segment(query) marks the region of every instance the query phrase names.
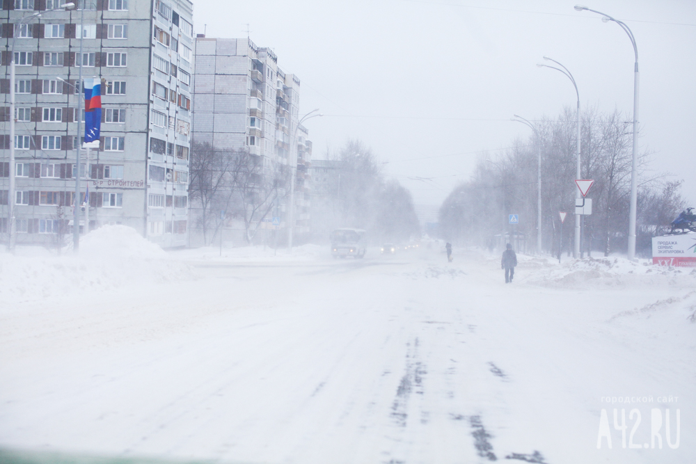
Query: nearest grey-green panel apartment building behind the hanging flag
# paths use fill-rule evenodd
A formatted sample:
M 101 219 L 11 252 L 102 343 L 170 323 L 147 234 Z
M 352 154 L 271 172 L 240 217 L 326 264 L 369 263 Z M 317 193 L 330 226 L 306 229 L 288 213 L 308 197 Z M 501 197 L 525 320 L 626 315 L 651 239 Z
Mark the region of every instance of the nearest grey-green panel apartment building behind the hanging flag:
M 102 81 L 99 150 L 91 150 L 90 229 L 124 224 L 162 246 L 187 243 L 193 4 L 188 0 L 4 0 L 1 189 L 15 175 L 17 243 L 52 243 L 72 228 L 76 147 L 84 134 L 79 64 Z M 84 6 L 85 10 L 80 8 Z M 35 12 L 39 19 L 19 22 Z M 84 13 L 84 26 L 81 17 Z M 80 42 L 83 50 L 80 56 Z M 15 50 L 15 141 L 9 140 L 9 54 Z M 81 125 L 84 130 L 84 124 Z M 78 138 L 79 137 L 79 138 Z M 6 168 L 15 143 L 15 173 Z M 82 152 L 83 166 L 86 152 Z M 83 224 L 80 225 L 83 228 Z M 70 232 L 70 231 L 68 231 Z

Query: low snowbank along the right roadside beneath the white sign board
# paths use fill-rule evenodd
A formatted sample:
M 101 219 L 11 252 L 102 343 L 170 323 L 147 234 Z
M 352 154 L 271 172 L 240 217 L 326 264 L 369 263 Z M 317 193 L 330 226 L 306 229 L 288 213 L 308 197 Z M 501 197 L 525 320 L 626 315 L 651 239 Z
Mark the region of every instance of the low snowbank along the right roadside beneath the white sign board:
M 696 269 L 674 268 L 638 262 L 623 257 L 555 259 L 524 257 L 519 260 L 519 275 L 525 281 L 547 287 L 597 287 L 623 285 L 696 285 Z

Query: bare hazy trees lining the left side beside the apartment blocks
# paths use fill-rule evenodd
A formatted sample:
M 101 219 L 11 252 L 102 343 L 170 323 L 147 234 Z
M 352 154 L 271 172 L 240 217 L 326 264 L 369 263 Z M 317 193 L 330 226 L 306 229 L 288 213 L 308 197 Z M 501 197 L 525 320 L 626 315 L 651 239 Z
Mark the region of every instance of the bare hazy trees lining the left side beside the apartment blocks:
M 323 183 L 325 189 L 313 192 L 311 231 L 299 241 L 326 241 L 338 227 L 366 229 L 376 241 L 406 241 L 419 234 L 411 193 L 384 179 L 370 147 L 349 140 L 340 150 L 327 152 L 327 157 L 331 173 Z M 221 227 L 239 221 L 246 243 L 253 243 L 259 223 L 287 214 L 291 175 L 290 166 L 264 162 L 244 150 L 221 151 L 209 143 L 193 143 L 189 168 L 193 226 L 209 244 Z M 285 232 L 287 227 L 280 234 Z

